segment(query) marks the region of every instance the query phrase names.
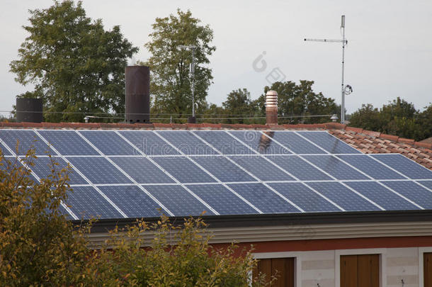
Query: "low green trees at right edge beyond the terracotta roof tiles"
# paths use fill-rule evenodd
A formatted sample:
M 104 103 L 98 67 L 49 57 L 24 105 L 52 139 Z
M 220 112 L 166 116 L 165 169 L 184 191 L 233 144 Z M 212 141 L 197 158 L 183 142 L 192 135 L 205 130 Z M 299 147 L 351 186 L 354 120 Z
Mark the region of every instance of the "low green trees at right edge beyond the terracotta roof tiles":
M 362 105 L 351 115 L 350 125 L 399 137 L 423 140 L 432 136 L 431 114 L 432 104 L 420 113 L 413 103 L 397 97 L 380 109 L 374 108 L 370 103 Z

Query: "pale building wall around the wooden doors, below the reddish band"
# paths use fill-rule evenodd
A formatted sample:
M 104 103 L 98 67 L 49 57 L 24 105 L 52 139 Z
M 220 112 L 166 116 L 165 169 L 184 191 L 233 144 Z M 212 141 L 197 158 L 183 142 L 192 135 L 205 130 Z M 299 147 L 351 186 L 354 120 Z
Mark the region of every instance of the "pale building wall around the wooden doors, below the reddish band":
M 423 285 L 423 252 L 432 252 L 432 247 L 256 252 L 254 256 L 257 259 L 295 257 L 295 286 L 339 287 L 341 255 L 380 254 L 380 286 L 401 287 L 404 280 L 404 287 L 420 287 Z

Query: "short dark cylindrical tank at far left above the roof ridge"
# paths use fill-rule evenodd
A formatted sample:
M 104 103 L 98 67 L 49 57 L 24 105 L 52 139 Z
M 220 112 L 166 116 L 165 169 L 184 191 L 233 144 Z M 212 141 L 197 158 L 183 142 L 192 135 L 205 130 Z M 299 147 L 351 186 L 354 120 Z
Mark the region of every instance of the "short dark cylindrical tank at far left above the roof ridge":
M 17 98 L 16 120 L 18 122 L 42 123 L 42 99 Z

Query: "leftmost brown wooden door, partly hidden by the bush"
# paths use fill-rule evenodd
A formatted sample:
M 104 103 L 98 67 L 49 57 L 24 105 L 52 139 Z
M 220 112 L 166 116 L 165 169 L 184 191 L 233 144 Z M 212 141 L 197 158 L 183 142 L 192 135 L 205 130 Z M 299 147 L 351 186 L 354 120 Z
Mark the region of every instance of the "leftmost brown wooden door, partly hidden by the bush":
M 254 270 L 254 277 L 259 273 L 266 274 L 266 281 L 277 273 L 277 278 L 271 287 L 294 287 L 294 258 L 259 259 Z

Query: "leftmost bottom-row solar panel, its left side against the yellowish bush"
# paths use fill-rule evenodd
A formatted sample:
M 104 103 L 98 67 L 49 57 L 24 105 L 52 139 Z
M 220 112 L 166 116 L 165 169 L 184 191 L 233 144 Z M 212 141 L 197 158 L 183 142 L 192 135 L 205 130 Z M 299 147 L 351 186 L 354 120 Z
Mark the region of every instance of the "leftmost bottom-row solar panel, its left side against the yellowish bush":
M 123 216 L 91 186 L 75 186 L 67 192 L 67 206 L 79 219 L 123 218 Z

